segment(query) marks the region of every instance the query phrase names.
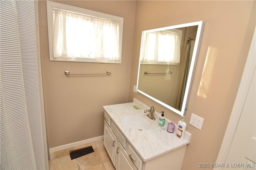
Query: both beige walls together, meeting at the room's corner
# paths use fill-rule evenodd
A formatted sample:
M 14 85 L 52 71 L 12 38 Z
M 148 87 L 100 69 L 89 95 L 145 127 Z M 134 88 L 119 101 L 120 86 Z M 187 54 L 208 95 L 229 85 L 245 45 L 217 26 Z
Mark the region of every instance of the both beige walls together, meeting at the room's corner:
M 226 130 L 255 27 L 255 1 L 58 1 L 124 18 L 122 64 L 49 61 L 46 1 L 39 1 L 40 53 L 49 147 L 103 135 L 104 105 L 137 98 L 175 123 L 178 114 L 134 93 L 142 30 L 203 20 L 202 43 L 186 123 L 192 141 L 182 169 L 214 163 Z M 135 16 L 136 14 L 136 16 Z M 105 72 L 111 76 L 64 76 Z M 191 113 L 202 130 L 189 125 Z M 202 169 L 202 168 L 200 168 Z M 211 168 L 212 169 L 212 168 Z

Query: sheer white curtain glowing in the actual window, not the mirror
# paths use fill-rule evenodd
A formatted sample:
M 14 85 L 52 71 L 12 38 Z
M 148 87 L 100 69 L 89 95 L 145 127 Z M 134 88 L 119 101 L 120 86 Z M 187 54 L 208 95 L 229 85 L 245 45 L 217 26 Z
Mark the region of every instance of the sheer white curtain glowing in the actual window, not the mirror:
M 120 60 L 119 22 L 54 9 L 54 58 Z

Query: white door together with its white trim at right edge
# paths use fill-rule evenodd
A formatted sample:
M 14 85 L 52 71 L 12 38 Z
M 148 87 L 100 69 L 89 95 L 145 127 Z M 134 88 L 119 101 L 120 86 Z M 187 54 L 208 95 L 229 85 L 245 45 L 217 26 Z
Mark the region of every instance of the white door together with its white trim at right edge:
M 256 29 L 214 170 L 256 170 Z

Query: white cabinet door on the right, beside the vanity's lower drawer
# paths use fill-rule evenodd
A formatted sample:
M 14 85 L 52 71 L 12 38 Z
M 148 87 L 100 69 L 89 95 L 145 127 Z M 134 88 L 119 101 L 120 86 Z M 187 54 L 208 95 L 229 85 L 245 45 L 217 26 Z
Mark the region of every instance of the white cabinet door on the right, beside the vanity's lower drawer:
M 137 170 L 134 164 L 129 160 L 128 154 L 119 141 L 116 149 L 116 163 L 114 165 L 116 170 Z

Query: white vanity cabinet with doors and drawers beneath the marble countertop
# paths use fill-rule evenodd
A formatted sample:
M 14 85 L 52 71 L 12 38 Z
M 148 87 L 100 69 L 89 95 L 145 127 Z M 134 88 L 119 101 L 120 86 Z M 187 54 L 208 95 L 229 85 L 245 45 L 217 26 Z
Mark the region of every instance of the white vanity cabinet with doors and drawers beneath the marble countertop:
M 181 169 L 186 145 L 144 161 L 106 112 L 104 117 L 103 143 L 116 170 Z M 148 145 L 148 143 L 145 143 L 145 145 Z

